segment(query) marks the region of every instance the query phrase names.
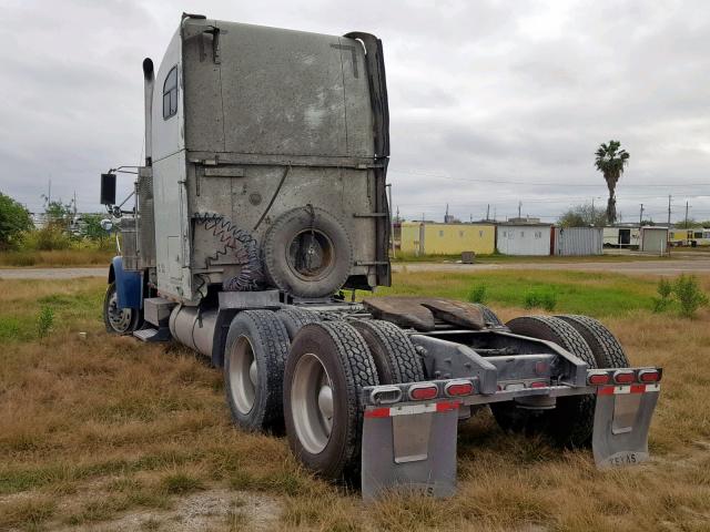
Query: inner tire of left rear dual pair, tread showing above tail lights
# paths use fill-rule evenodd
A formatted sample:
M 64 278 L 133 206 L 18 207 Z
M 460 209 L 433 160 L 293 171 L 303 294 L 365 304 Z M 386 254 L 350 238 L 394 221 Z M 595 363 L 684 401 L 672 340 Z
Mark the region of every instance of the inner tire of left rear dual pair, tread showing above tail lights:
M 422 357 L 399 327 L 379 319 L 355 319 L 351 325 L 365 339 L 381 385 L 425 380 Z

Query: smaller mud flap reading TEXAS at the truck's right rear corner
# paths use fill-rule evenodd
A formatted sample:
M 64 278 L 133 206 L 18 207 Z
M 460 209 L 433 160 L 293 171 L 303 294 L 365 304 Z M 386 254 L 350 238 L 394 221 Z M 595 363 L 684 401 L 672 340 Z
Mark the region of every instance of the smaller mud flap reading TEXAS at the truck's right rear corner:
M 660 385 L 605 386 L 597 390 L 591 447 L 599 469 L 648 460 L 648 429 Z

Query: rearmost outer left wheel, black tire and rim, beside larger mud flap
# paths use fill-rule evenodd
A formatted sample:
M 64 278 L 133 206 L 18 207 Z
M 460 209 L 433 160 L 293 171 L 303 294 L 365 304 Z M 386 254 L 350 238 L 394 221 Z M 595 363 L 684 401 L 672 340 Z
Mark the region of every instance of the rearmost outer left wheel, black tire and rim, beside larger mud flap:
M 359 471 L 362 390 L 378 385 L 367 344 L 345 321 L 306 325 L 291 345 L 284 372 L 288 444 L 308 469 L 327 479 Z

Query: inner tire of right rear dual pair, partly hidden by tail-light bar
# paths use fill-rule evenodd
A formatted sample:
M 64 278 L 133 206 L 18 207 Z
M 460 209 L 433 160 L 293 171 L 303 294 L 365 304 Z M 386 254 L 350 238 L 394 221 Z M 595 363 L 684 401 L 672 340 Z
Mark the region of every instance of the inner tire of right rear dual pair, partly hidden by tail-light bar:
M 596 368 L 597 362 L 585 338 L 566 321 L 549 316 L 527 316 L 508 321 L 516 335 L 554 341 Z M 501 429 L 511 432 L 542 432 L 565 447 L 587 446 L 594 428 L 596 397 L 557 398 L 552 410 L 524 410 L 514 402 L 494 403 L 490 409 Z

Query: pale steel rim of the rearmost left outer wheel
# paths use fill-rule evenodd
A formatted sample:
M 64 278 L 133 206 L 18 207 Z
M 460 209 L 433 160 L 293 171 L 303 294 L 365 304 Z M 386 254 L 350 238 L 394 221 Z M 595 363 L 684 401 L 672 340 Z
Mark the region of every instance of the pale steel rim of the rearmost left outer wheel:
M 303 448 L 318 454 L 333 430 L 333 383 L 318 357 L 308 352 L 296 362 L 291 387 L 293 424 Z

